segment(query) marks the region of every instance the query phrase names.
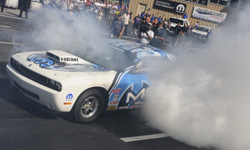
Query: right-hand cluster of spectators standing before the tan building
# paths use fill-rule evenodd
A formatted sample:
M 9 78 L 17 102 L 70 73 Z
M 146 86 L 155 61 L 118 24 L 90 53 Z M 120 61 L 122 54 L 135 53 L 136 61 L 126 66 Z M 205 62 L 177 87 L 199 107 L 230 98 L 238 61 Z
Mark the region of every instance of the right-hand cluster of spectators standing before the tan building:
M 182 18 L 187 19 L 187 13 L 184 13 Z M 184 26 L 177 24 L 173 27 L 169 19 L 163 19 L 161 16 L 157 17 L 154 14 L 144 12 L 135 16 L 132 24 L 133 30 L 131 34 L 138 37 L 138 42 L 160 48 L 163 48 L 163 43 L 166 42 L 178 45 L 180 40 L 189 34 L 191 28 L 187 22 L 184 23 Z M 172 41 L 167 41 L 167 36 L 171 36 Z

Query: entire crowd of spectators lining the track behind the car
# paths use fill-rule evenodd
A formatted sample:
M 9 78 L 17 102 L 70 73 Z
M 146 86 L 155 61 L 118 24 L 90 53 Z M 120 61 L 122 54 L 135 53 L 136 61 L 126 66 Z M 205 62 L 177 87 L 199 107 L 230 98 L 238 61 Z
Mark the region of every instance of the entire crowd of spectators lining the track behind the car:
M 97 25 L 100 25 L 103 18 L 113 18 L 109 29 L 111 37 L 120 38 L 123 34 L 127 36 L 128 33 L 131 33 L 137 36 L 138 42 L 159 48 L 163 48 L 163 43 L 178 45 L 189 35 L 190 28 L 192 28 L 187 22 L 184 23 L 184 26 L 181 26 L 180 23 L 173 26 L 169 19 L 142 12 L 132 18 L 133 29 L 128 31 L 131 19 L 128 4 L 94 0 L 42 0 L 41 2 L 43 7 L 55 7 L 71 14 L 84 12 L 93 15 Z M 21 9 L 20 16 L 25 10 Z M 184 13 L 182 18 L 187 19 L 187 13 Z M 198 22 L 196 22 L 196 26 L 198 26 Z M 171 41 L 167 41 L 168 36 L 172 37 Z

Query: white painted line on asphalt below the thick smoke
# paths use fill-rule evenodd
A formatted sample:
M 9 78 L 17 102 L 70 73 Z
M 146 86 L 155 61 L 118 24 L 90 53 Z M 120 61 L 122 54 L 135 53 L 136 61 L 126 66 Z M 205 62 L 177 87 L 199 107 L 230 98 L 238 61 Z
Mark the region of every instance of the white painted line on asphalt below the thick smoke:
M 159 133 L 159 134 L 151 134 L 151 135 L 143 135 L 143 136 L 125 137 L 125 138 L 120 138 L 120 139 L 127 143 L 127 142 L 158 139 L 158 138 L 164 138 L 164 137 L 168 137 L 168 135 L 166 135 L 165 133 Z

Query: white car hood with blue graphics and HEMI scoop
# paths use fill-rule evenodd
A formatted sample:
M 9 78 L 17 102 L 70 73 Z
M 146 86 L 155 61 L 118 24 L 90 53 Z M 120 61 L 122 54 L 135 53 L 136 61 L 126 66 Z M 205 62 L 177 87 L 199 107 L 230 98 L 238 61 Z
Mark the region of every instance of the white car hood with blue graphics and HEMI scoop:
M 90 63 L 80 57 L 60 50 L 47 52 L 24 52 L 22 59 L 26 59 L 29 66 L 37 65 L 42 69 L 63 72 L 107 72 L 107 68 Z

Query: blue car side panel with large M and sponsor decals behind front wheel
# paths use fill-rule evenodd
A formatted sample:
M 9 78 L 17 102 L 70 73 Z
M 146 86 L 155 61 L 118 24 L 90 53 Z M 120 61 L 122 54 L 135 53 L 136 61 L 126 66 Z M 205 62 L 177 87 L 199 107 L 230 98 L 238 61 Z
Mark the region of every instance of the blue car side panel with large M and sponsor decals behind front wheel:
M 109 95 L 108 110 L 137 108 L 149 86 L 143 60 L 122 72 Z

